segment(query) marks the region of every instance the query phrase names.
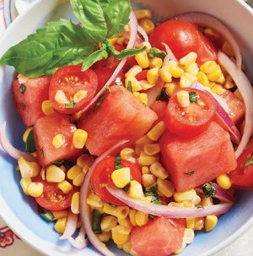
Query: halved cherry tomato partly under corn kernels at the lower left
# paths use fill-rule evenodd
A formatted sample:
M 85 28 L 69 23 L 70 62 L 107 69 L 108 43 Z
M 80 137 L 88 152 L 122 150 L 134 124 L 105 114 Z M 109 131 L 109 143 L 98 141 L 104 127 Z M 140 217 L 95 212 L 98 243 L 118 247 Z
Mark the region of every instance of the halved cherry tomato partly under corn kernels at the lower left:
M 34 182 L 41 182 L 43 184 L 43 193 L 40 197 L 36 197 L 37 204 L 40 204 L 46 210 L 65 210 L 71 205 L 73 193 L 78 191 L 78 188 L 73 186 L 69 193 L 63 193 L 58 188 L 56 182 L 47 182 L 42 177 L 37 176 L 33 179 Z

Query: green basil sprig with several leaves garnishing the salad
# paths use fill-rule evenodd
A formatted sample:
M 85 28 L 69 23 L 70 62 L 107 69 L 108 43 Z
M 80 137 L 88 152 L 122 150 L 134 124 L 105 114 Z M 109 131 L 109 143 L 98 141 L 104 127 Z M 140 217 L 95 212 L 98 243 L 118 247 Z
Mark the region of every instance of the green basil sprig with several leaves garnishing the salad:
M 49 22 L 0 58 L 0 65 L 10 65 L 29 78 L 54 74 L 57 68 L 83 63 L 83 70 L 111 54 L 119 58 L 144 51 L 130 49 L 116 52 L 107 38 L 120 35 L 129 21 L 129 0 L 71 0 L 73 14 L 81 25 L 71 20 Z M 97 50 L 97 45 L 101 48 Z

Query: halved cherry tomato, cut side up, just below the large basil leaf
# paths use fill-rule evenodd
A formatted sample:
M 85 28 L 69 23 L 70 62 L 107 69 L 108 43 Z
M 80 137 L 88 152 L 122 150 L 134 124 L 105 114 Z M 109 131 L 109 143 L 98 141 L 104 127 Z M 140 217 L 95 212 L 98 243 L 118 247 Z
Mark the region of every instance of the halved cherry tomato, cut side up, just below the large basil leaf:
M 82 65 L 64 66 L 58 68 L 52 76 L 49 99 L 57 112 L 73 114 L 82 110 L 93 99 L 97 91 L 97 75 L 91 69 L 81 71 L 81 68 Z M 78 93 L 81 95 L 78 96 Z

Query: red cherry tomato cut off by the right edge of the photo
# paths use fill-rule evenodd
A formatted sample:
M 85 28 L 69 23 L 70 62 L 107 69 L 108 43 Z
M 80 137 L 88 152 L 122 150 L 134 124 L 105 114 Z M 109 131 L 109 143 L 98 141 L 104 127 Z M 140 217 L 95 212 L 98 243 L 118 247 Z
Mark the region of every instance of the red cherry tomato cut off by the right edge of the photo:
M 229 172 L 229 178 L 235 187 L 253 188 L 253 139 L 237 159 L 237 167 Z

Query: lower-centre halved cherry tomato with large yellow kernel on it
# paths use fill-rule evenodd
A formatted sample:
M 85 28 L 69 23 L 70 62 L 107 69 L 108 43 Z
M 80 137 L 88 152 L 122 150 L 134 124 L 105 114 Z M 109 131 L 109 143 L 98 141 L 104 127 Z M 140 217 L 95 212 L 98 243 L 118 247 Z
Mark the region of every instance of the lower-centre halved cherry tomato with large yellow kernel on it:
M 100 161 L 97 166 L 95 166 L 91 177 L 91 186 L 94 189 L 94 192 L 97 193 L 101 199 L 105 200 L 105 202 L 116 205 L 125 205 L 121 200 L 116 199 L 111 195 L 105 188 L 106 184 L 114 186 L 111 179 L 111 173 L 115 170 L 115 159 L 116 158 L 113 156 L 106 157 L 104 160 Z M 136 164 L 121 159 L 121 166 L 130 167 L 132 179 L 142 183 L 142 174 Z

